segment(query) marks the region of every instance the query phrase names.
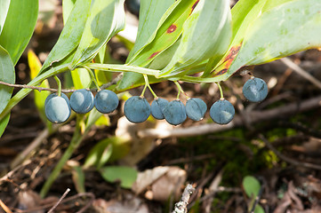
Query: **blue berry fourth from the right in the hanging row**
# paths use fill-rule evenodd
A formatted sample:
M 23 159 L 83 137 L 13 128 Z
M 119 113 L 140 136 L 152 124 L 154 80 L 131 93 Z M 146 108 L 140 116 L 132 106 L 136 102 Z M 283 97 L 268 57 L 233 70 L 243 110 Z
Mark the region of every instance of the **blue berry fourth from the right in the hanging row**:
M 187 118 L 186 109 L 181 100 L 173 100 L 164 108 L 163 114 L 166 122 L 179 125 Z

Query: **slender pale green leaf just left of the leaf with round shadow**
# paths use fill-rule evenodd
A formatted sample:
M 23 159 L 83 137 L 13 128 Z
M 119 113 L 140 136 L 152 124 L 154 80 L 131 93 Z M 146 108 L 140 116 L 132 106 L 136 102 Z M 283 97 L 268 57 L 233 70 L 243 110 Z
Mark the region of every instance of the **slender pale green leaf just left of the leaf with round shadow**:
M 62 61 L 70 55 L 73 57 L 73 51 L 78 46 L 84 32 L 84 25 L 89 16 L 90 5 L 91 1 L 89 0 L 76 1 L 57 43 L 52 48 L 48 58 L 44 61 L 40 74 L 43 73 L 47 67 L 50 67 L 53 62 Z

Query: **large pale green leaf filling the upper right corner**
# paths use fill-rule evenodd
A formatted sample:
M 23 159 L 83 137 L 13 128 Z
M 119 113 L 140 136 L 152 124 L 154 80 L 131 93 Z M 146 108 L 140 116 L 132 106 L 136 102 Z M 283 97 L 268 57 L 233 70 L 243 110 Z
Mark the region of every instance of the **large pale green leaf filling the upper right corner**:
M 320 8 L 318 0 L 297 0 L 264 12 L 248 28 L 243 46 L 226 77 L 244 66 L 263 64 L 320 47 Z

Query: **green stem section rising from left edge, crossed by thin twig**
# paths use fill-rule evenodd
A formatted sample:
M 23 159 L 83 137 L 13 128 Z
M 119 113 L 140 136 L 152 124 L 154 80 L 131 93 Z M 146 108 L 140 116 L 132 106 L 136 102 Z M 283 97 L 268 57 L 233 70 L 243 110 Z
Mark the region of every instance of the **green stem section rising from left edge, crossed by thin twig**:
M 39 85 L 40 83 L 42 83 L 44 81 L 44 79 L 47 79 L 53 75 L 58 75 L 60 73 L 66 72 L 69 70 L 69 64 L 64 64 L 64 65 L 60 65 L 57 67 L 53 67 L 52 69 L 44 72 L 41 75 L 36 76 L 36 78 L 34 78 L 32 81 L 30 81 L 27 85 L 28 86 L 36 86 Z M 17 94 L 15 96 L 12 97 L 12 99 L 10 99 L 9 103 L 7 106 L 5 106 L 4 110 L 2 111 L 2 113 L 0 114 L 0 121 L 4 119 L 4 117 L 10 113 L 10 111 L 12 110 L 13 106 L 16 106 L 21 99 L 25 98 L 28 93 L 32 91 L 31 89 L 22 89 L 19 92 L 17 92 Z

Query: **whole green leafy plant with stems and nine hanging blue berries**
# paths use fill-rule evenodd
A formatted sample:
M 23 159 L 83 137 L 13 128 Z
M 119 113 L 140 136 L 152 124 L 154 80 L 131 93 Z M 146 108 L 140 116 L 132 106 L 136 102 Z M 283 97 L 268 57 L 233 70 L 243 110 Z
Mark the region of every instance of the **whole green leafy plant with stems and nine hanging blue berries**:
M 14 84 L 14 66 L 34 32 L 38 0 L 3 2 L 0 8 L 0 135 L 9 122 L 12 107 L 30 91 L 44 92 L 44 102 L 49 95 L 45 92 L 52 91 L 46 80 L 50 77 L 55 78 L 58 89 L 53 90 L 56 94 L 50 95 L 45 104 L 38 103 L 38 108 L 44 111 L 43 117 L 51 122 L 66 122 L 71 110 L 77 113 L 72 147 L 68 147 L 47 179 L 42 196 L 86 132 L 100 118 L 100 112 L 110 113 L 116 109 L 117 93 L 144 85 L 140 96 L 126 101 L 125 116 L 131 122 L 143 122 L 152 114 L 156 119 L 177 125 L 187 116 L 199 121 L 207 110 L 201 99 L 187 97 L 184 106 L 180 94 L 185 93 L 180 83 L 218 83 L 221 99 L 213 101 L 210 115 L 214 122 L 226 124 L 232 120 L 235 110 L 224 99 L 221 82 L 241 68 L 321 47 L 319 0 L 239 0 L 232 9 L 227 0 L 141 0 L 136 42 L 125 64 L 110 64 L 105 63 L 106 47 L 110 38 L 124 29 L 124 0 L 63 0 L 65 26 L 57 43 L 28 85 L 21 86 L 12 97 L 13 87 L 19 86 Z M 120 75 L 111 79 L 110 72 Z M 71 73 L 74 90 L 61 89 L 57 75 L 62 73 Z M 79 80 L 84 79 L 82 75 L 90 80 Z M 152 91 L 151 83 L 163 81 L 177 85 L 176 100 L 168 102 Z M 147 88 L 155 97 L 151 106 L 144 98 Z M 89 89 L 98 91 L 95 97 Z M 61 91 L 74 93 L 69 100 Z M 254 76 L 245 83 L 243 91 L 250 101 L 261 101 L 268 94 L 266 83 Z M 41 95 L 37 93 L 37 96 Z

